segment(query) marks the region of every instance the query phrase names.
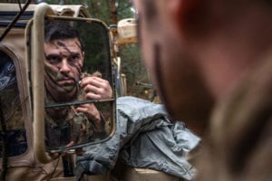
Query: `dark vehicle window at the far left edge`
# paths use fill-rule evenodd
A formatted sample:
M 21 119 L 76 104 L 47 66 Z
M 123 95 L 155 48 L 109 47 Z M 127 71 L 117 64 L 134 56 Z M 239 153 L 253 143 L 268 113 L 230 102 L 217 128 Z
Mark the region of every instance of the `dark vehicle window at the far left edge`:
M 25 152 L 27 142 L 15 63 L 7 53 L 1 50 L 0 101 L 0 157 L 19 156 Z

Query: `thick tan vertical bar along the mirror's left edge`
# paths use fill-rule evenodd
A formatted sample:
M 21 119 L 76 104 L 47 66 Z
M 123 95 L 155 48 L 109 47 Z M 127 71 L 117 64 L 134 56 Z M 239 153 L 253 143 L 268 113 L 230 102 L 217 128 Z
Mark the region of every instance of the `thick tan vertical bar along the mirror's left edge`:
M 34 96 L 34 154 L 42 163 L 48 163 L 58 154 L 45 152 L 44 143 L 44 15 L 53 14 L 53 9 L 41 3 L 34 11 L 32 58 L 32 81 Z M 41 39 L 39 39 L 41 37 Z

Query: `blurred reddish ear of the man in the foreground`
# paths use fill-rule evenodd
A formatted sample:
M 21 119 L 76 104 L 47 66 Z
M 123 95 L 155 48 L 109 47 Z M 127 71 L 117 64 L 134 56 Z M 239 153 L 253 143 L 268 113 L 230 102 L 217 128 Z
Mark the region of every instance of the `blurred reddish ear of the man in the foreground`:
M 206 5 L 203 0 L 168 0 L 169 11 L 174 24 L 182 32 L 193 33 L 199 30 L 204 21 Z M 203 16 L 204 15 L 204 16 Z

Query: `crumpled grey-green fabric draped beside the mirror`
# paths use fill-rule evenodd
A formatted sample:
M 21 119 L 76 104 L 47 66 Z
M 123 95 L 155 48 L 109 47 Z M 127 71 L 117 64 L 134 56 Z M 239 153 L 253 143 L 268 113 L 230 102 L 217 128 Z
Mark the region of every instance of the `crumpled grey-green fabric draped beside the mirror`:
M 121 157 L 128 166 L 144 167 L 191 180 L 196 169 L 185 155 L 200 138 L 181 121 L 171 122 L 161 104 L 134 97 L 117 99 L 117 128 L 106 142 L 83 148 L 75 176 L 105 175 Z

